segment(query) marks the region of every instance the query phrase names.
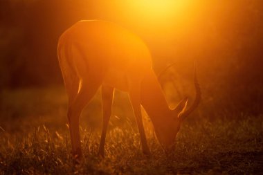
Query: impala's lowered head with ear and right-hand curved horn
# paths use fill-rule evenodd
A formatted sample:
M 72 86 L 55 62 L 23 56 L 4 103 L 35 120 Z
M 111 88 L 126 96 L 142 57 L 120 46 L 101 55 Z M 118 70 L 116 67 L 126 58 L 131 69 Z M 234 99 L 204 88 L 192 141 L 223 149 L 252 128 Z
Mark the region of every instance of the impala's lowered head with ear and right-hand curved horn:
M 174 141 L 183 120 L 185 120 L 185 118 L 187 118 L 190 113 L 192 113 L 192 111 L 198 107 L 201 100 L 201 90 L 197 81 L 195 66 L 194 87 L 196 95 L 192 106 L 187 109 L 188 98 L 184 98 L 181 100 L 181 102 L 179 102 L 175 109 L 167 113 L 166 116 L 163 116 L 164 120 L 162 120 L 160 125 L 155 128 L 156 137 L 167 154 L 171 154 L 174 150 Z

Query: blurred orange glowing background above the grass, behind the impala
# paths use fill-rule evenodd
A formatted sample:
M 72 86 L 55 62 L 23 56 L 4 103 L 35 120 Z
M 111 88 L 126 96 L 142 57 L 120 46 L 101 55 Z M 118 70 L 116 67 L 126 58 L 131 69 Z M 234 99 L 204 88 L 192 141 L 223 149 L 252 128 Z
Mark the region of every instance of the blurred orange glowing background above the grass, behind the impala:
M 160 77 L 172 106 L 194 98 L 197 61 L 199 116 L 262 113 L 262 0 L 1 0 L 1 91 L 63 86 L 57 40 L 81 19 L 114 21 L 136 33 L 156 74 L 174 64 Z

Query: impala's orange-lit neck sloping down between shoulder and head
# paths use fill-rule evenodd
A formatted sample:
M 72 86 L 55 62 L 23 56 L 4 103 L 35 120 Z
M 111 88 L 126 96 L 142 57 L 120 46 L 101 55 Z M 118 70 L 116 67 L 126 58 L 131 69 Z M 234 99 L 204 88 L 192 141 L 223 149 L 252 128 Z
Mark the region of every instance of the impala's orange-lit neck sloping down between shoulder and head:
M 153 71 L 149 72 L 141 82 L 141 104 L 154 126 L 172 114 Z

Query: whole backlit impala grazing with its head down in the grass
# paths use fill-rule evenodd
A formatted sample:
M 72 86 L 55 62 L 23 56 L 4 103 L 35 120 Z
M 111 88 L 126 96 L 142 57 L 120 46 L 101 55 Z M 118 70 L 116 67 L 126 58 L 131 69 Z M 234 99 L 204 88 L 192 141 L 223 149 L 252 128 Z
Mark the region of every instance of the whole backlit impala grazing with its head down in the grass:
M 105 137 L 114 89 L 129 93 L 144 154 L 150 154 L 145 138 L 140 104 L 151 118 L 156 137 L 165 151 L 174 147 L 181 122 L 197 108 L 201 92 L 194 71 L 196 98 L 188 110 L 188 99 L 170 109 L 152 70 L 152 57 L 144 42 L 107 21 L 79 21 L 66 30 L 58 42 L 58 57 L 69 97 L 69 129 L 73 156 L 82 156 L 79 118 L 102 86 L 102 135 L 98 153 L 104 156 Z

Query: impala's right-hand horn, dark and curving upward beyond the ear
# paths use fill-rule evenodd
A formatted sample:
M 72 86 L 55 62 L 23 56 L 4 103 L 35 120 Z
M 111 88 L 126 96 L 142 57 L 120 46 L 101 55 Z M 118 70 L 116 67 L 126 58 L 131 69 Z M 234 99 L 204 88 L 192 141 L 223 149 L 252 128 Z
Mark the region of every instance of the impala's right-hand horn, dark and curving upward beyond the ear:
M 194 88 L 195 88 L 195 99 L 194 99 L 194 103 L 192 104 L 192 106 L 179 113 L 179 120 L 183 121 L 185 120 L 185 118 L 187 116 L 190 115 L 190 113 L 192 113 L 192 111 L 194 111 L 194 109 L 196 109 L 201 101 L 201 89 L 200 89 L 200 86 L 199 86 L 199 82 L 197 80 L 197 68 L 196 68 L 196 62 L 194 62 Z

